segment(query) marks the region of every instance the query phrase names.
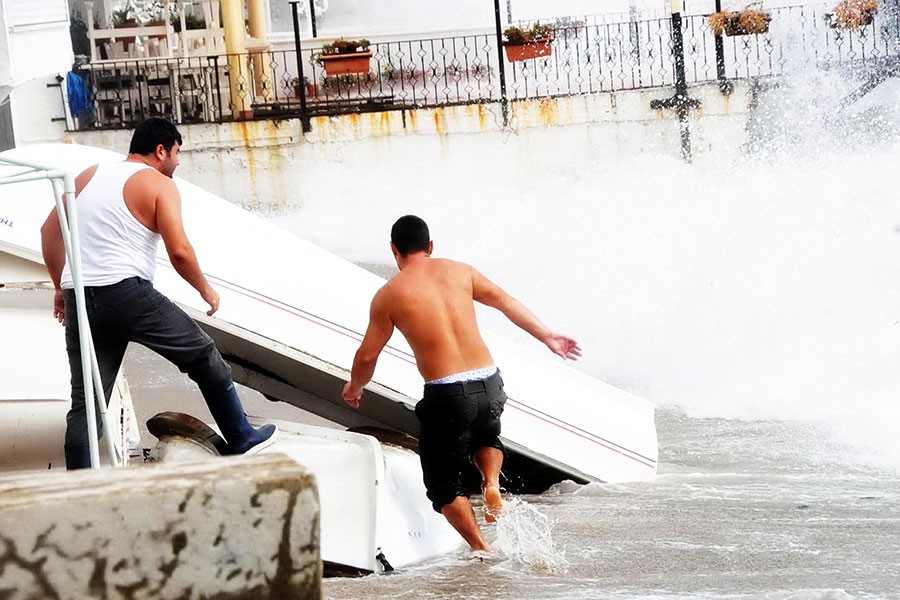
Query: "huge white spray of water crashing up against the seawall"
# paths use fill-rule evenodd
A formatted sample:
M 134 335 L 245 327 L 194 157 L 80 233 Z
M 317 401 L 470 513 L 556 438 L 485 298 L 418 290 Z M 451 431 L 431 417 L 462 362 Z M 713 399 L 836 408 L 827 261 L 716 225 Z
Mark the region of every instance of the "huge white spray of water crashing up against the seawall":
M 763 93 L 751 152 L 693 165 L 585 127 L 391 140 L 396 168 L 362 176 L 371 147 L 335 147 L 281 218 L 388 268 L 391 224 L 418 214 L 436 255 L 579 339 L 577 368 L 694 417 L 832 423 L 900 465 L 900 86 L 838 111 L 855 84 L 837 77 Z

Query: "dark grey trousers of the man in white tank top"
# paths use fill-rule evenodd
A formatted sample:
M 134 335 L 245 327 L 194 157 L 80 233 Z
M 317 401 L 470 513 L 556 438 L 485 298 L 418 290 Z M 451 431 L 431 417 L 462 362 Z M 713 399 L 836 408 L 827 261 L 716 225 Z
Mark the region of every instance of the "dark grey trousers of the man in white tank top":
M 149 281 L 130 277 L 106 286 L 85 287 L 85 307 L 105 397 L 109 398 L 129 342 L 137 342 L 174 363 L 200 387 L 207 404 L 233 394 L 231 367 L 206 332 L 160 294 Z M 72 408 L 66 416 L 66 468 L 90 466 L 81 346 L 74 290 L 65 291 L 66 351 L 72 375 Z M 98 433 L 102 427 L 97 423 Z

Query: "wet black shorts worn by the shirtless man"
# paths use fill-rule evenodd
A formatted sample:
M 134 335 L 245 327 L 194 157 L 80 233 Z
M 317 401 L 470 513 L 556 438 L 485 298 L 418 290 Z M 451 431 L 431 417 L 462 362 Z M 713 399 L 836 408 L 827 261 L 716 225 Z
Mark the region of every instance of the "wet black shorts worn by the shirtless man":
M 476 450 L 497 448 L 506 455 L 500 442 L 505 403 L 499 371 L 479 381 L 425 384 L 416 404 L 419 458 L 425 490 L 437 512 L 457 496 L 468 496 L 462 474 Z

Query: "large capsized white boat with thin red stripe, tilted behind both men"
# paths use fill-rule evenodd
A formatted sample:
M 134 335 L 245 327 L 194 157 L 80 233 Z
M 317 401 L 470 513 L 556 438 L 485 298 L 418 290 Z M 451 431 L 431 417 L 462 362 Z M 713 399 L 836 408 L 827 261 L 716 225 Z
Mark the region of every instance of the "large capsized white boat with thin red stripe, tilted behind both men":
M 67 144 L 0 154 L 73 172 L 122 158 Z M 15 172 L 0 167 L 0 176 Z M 422 381 L 399 332 L 382 354 L 359 412 L 340 391 L 384 281 L 277 225 L 176 177 L 185 227 L 221 295 L 215 317 L 172 269 L 160 245 L 156 286 L 216 339 L 235 379 L 268 397 L 344 425 L 370 424 L 413 436 Z M 15 189 L 15 192 L 10 191 Z M 47 182 L 8 186 L 0 201 L 0 249 L 40 262 L 39 228 L 53 206 Z M 509 402 L 504 467 L 513 489 L 650 479 L 657 470 L 653 405 L 562 363 L 543 348 L 485 333 Z

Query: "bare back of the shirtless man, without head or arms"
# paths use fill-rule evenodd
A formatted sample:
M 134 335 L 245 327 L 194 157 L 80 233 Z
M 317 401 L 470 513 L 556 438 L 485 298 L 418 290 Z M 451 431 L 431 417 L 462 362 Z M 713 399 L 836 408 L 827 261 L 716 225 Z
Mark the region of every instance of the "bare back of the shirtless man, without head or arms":
M 412 262 L 374 302 L 409 342 L 425 381 L 493 365 L 473 304 L 484 277 L 452 260 Z

